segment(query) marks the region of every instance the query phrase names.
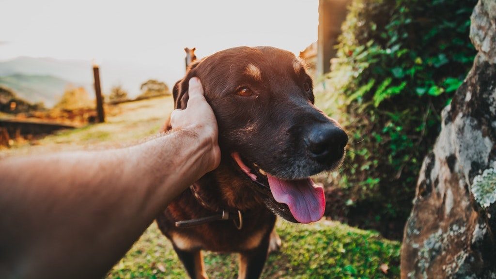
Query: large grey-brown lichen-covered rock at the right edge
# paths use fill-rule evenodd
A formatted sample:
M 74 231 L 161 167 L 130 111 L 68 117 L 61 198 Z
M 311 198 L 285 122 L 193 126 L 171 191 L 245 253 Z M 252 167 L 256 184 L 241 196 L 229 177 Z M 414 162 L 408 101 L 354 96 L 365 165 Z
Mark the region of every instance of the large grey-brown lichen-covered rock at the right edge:
M 479 53 L 424 160 L 402 278 L 496 278 L 496 1 L 480 0 L 471 19 Z

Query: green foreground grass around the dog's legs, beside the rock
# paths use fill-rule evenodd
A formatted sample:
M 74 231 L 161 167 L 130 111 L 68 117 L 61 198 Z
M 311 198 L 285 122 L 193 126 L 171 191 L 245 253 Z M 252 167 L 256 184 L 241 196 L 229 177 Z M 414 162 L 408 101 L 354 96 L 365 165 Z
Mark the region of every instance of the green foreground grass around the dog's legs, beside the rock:
M 399 248 L 396 241 L 378 233 L 339 222 L 322 220 L 302 225 L 277 223 L 282 249 L 271 254 L 262 278 L 399 278 Z M 210 278 L 237 278 L 236 254 L 204 254 Z M 385 275 L 379 267 L 389 267 Z M 168 239 L 152 224 L 125 257 L 112 269 L 108 279 L 186 277 Z

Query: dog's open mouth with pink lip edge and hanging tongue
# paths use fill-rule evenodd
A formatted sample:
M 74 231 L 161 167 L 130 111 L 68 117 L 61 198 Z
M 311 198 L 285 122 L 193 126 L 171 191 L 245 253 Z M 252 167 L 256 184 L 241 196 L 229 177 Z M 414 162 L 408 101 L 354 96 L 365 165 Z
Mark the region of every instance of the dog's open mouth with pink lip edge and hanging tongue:
M 262 189 L 268 190 L 276 203 L 285 204 L 294 219 L 300 223 L 318 221 L 324 215 L 324 189 L 310 177 L 284 179 L 265 172 L 253 164 L 252 171 L 241 159 L 238 152 L 231 154 L 241 170 Z M 268 184 L 268 186 L 267 186 Z

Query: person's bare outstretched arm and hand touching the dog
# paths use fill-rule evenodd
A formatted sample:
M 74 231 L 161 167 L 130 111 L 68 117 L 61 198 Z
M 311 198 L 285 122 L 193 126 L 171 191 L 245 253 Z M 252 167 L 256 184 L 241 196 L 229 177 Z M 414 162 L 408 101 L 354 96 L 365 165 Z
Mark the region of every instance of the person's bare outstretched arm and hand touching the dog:
M 197 78 L 172 132 L 122 149 L 0 161 L 0 278 L 101 278 L 159 212 L 220 163 Z

